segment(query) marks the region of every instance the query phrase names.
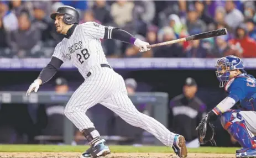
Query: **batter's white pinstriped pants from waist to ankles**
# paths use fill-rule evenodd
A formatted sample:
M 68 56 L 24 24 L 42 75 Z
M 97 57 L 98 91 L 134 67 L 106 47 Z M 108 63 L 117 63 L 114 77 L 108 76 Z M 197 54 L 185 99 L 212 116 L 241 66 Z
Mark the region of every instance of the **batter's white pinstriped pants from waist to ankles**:
M 130 101 L 123 77 L 108 67 L 95 66 L 92 75 L 72 94 L 65 107 L 65 115 L 75 126 L 83 129 L 95 128 L 86 116 L 86 110 L 100 103 L 118 114 L 134 127 L 147 130 L 166 146 L 173 146 L 174 133 L 154 118 L 140 113 Z

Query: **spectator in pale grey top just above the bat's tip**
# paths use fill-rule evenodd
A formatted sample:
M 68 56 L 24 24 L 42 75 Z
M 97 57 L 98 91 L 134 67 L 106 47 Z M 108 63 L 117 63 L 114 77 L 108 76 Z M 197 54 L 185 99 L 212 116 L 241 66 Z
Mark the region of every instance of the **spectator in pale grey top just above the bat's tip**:
M 233 1 L 226 1 L 225 8 L 227 12 L 224 18 L 225 22 L 232 29 L 236 29 L 244 20 L 242 12 L 236 8 L 236 4 Z

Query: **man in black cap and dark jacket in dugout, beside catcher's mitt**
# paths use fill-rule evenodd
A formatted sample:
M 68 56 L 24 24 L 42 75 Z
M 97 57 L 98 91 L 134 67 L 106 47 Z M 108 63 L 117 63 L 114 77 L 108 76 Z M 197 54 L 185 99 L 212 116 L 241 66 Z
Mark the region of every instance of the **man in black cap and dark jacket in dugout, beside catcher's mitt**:
M 178 134 L 184 135 L 187 147 L 197 148 L 196 127 L 206 114 L 206 105 L 196 97 L 197 84 L 194 78 L 186 78 L 183 94 L 170 101 L 170 128 Z

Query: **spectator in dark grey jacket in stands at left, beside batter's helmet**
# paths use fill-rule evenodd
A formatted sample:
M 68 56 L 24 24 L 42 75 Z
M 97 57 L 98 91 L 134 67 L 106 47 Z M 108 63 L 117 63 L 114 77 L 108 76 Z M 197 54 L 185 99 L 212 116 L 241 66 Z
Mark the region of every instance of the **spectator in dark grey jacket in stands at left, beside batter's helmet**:
M 36 26 L 31 23 L 28 12 L 23 11 L 19 17 L 19 28 L 11 32 L 11 49 L 17 51 L 18 57 L 24 57 L 25 51 L 32 51 L 37 48 L 41 33 L 37 30 Z

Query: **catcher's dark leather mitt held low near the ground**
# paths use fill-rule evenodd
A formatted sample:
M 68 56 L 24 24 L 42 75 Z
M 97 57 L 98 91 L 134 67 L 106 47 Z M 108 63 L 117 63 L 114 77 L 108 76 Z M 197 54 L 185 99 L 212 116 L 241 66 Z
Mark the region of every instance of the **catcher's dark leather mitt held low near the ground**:
M 216 146 L 216 142 L 213 139 L 215 134 L 214 126 L 211 122 L 208 121 L 208 115 L 206 115 L 206 117 L 201 120 L 196 130 L 198 133 L 198 140 L 201 145 L 210 141 L 212 145 Z

